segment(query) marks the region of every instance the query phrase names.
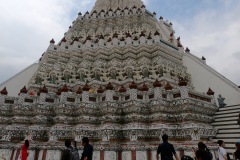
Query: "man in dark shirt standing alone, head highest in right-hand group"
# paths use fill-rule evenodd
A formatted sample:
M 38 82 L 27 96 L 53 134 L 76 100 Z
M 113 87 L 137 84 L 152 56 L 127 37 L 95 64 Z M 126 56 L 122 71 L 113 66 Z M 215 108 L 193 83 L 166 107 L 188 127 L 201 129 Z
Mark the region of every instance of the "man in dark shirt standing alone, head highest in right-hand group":
M 164 134 L 162 136 L 163 143 L 158 146 L 157 150 L 157 160 L 159 160 L 158 155 L 161 154 L 161 160 L 173 160 L 173 155 L 178 159 L 175 149 L 172 144 L 168 143 L 168 135 Z

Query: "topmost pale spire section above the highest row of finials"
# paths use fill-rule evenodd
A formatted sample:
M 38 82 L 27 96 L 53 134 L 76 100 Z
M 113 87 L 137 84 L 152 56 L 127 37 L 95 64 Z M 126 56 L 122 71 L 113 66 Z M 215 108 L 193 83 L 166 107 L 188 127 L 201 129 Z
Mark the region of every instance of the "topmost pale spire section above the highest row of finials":
M 92 11 L 107 11 L 110 8 L 116 10 L 117 8 L 124 9 L 125 7 L 131 8 L 133 6 L 140 8 L 142 5 L 143 2 L 141 0 L 97 0 Z

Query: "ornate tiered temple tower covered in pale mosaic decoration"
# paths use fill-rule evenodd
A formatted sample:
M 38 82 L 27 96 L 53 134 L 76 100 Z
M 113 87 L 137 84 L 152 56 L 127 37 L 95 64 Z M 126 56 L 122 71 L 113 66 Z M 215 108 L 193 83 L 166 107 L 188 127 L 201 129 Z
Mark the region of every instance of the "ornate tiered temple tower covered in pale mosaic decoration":
M 29 159 L 59 160 L 64 140 L 88 136 L 94 160 L 155 160 L 164 133 L 190 152 L 215 136 L 218 109 L 210 88 L 195 89 L 184 64 L 191 58 L 206 66 L 141 0 L 97 0 L 59 43 L 50 41 L 18 97 L 2 88 L 0 157 L 16 159 L 30 137 Z

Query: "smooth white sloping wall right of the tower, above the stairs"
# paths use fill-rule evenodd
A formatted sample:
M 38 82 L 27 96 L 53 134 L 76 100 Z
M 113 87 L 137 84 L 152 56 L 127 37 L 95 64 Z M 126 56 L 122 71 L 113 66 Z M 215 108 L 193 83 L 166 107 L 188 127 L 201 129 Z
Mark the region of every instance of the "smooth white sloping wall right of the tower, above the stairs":
M 183 65 L 187 67 L 187 72 L 192 75 L 192 83 L 196 91 L 206 93 L 210 87 L 215 92 L 216 102 L 218 95 L 221 94 L 227 105 L 240 104 L 240 89 L 238 86 L 201 62 L 194 55 L 184 54 Z

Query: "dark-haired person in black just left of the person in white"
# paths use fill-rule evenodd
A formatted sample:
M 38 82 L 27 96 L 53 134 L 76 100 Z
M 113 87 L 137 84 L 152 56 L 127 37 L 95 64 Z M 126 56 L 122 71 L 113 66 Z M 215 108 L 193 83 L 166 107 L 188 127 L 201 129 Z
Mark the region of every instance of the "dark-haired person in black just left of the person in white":
M 213 155 L 211 151 L 207 148 L 207 146 L 203 142 L 198 143 L 198 150 L 195 152 L 196 160 L 212 160 Z

